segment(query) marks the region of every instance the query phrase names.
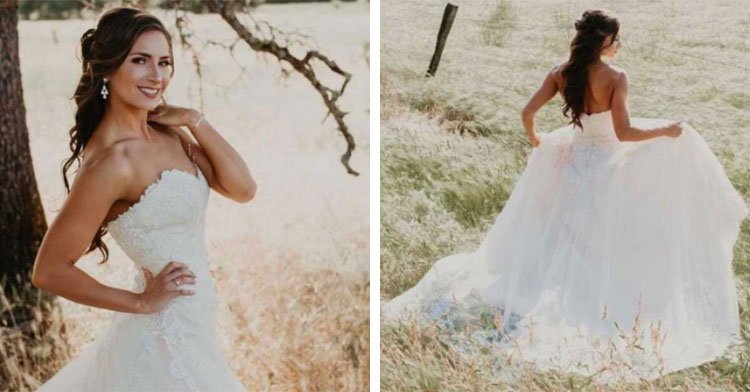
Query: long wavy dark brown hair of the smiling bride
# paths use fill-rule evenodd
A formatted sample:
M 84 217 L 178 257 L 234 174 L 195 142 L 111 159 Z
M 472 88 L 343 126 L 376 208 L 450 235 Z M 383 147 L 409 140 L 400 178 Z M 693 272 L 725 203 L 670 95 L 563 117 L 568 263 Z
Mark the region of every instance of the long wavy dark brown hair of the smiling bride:
M 70 128 L 70 151 L 72 155 L 63 163 L 62 174 L 65 189 L 70 193 L 67 172 L 74 161 L 81 164 L 80 154 L 104 116 L 106 101 L 100 92 L 104 77 L 108 77 L 125 61 L 141 33 L 157 30 L 164 33 L 172 54 L 172 38 L 164 25 L 155 16 L 135 8 L 113 8 L 99 19 L 95 29 L 88 29 L 81 37 L 83 74 L 76 87 L 77 110 L 75 125 Z M 174 73 L 174 68 L 172 68 Z M 107 229 L 99 227 L 85 254 L 94 249 L 102 253 L 102 264 L 109 259 L 109 249 L 102 241 Z

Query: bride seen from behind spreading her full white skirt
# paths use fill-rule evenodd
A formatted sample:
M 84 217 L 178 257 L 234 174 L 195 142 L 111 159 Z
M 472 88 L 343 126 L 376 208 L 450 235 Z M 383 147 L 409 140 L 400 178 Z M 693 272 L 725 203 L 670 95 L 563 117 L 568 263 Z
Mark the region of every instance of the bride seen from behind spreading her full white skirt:
M 385 302 L 384 321 L 465 328 L 484 312 L 491 326 L 463 331 L 462 348 L 605 381 L 711 361 L 740 331 L 732 248 L 747 206 L 692 127 L 630 117 L 627 74 L 603 61 L 618 20 L 589 10 L 575 28 L 523 110 L 534 149 L 489 233 Z M 557 93 L 570 125 L 537 134 Z

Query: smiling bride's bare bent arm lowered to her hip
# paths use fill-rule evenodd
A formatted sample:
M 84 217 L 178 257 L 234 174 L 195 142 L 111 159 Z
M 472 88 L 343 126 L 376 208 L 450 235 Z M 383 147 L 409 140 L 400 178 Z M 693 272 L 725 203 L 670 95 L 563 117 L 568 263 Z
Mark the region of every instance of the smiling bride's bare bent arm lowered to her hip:
M 75 266 L 112 204 L 125 197 L 132 176 L 129 162 L 118 153 L 79 169 L 70 194 L 36 255 L 31 277 L 35 287 L 84 305 L 126 313 L 149 313 L 154 310 L 154 302 L 165 299 L 161 293 L 156 293 L 160 298 L 147 300 L 146 292 L 134 293 L 103 285 Z M 180 276 L 189 280 L 190 275 Z M 189 295 L 187 290 L 182 291 L 186 293 L 180 294 Z

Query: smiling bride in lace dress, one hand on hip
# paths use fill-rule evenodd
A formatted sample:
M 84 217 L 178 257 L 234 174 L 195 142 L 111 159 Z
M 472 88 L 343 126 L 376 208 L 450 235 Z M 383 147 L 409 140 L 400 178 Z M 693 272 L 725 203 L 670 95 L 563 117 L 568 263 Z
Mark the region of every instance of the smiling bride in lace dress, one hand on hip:
M 32 283 L 115 313 L 39 390 L 244 391 L 215 337 L 204 213 L 210 189 L 244 203 L 255 182 L 203 115 L 160 105 L 174 68 L 171 37 L 157 18 L 112 9 L 83 34 L 81 52 L 73 154 L 63 167 L 69 195 L 42 241 Z M 143 270 L 132 291 L 75 266 L 94 249 L 108 259 L 107 232 Z

